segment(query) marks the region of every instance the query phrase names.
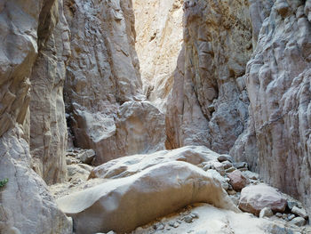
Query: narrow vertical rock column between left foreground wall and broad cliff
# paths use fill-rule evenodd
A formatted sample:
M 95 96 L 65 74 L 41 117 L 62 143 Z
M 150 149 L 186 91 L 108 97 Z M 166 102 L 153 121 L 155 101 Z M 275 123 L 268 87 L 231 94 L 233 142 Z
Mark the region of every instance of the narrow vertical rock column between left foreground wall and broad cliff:
M 45 19 L 39 24 L 39 52 L 30 78 L 30 150 L 36 173 L 50 184 L 66 179 L 63 86 L 70 45 L 63 4 L 57 3 L 41 16 Z

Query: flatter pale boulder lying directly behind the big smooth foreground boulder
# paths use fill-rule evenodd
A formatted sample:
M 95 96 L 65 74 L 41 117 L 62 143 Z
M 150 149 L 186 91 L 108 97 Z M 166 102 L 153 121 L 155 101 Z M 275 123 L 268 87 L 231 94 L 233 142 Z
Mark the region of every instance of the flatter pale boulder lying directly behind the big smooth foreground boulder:
M 204 146 L 186 146 L 173 150 L 162 150 L 150 155 L 133 155 L 111 160 L 96 166 L 89 178 L 121 178 L 139 173 L 146 168 L 172 161 L 184 161 L 192 165 L 217 161 L 219 155 Z

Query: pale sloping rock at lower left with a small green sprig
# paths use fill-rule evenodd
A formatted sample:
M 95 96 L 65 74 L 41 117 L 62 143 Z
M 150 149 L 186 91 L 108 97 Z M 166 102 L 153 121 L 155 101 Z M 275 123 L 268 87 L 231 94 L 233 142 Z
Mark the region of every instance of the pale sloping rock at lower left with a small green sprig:
M 30 169 L 28 142 L 20 128 L 0 138 L 0 233 L 72 233 L 72 221 L 60 212 L 44 181 Z

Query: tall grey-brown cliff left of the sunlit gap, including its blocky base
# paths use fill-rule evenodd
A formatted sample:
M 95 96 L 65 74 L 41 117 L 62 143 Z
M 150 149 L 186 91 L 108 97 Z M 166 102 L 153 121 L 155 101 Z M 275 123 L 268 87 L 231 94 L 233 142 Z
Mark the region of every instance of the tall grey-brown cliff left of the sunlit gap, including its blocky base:
M 97 164 L 163 149 L 163 115 L 139 102 L 146 98 L 132 1 L 67 1 L 66 9 L 72 59 L 65 91 L 76 146 L 94 149 Z

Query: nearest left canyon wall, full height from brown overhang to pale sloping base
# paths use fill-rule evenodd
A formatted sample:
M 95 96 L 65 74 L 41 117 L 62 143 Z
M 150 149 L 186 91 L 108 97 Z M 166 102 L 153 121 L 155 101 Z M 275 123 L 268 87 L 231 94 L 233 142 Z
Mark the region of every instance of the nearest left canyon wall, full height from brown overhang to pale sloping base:
M 1 233 L 72 232 L 72 221 L 60 212 L 45 182 L 32 170 L 28 144 L 29 77 L 38 52 L 37 31 L 46 16 L 53 15 L 53 25 L 57 23 L 58 6 L 52 0 L 0 3 L 0 180 L 9 179 L 0 188 Z M 45 26 L 49 35 L 52 23 Z

